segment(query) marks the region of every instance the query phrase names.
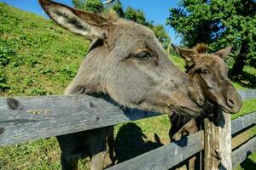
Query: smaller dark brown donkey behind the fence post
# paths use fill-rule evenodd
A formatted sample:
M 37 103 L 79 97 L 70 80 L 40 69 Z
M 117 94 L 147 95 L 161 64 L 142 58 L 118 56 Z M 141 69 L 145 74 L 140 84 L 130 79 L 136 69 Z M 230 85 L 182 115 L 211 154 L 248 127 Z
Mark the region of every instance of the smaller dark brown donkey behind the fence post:
M 186 72 L 201 88 L 207 103 L 205 111 L 209 112 L 214 107 L 221 107 L 228 113 L 241 110 L 241 97 L 230 82 L 228 67 L 224 63 L 224 58 L 230 54 L 231 47 L 221 49 L 214 54 L 207 54 L 207 46 L 203 43 L 197 44 L 193 49 L 179 48 L 173 44 L 172 47 L 185 59 Z M 172 122 L 169 135 L 174 141 L 196 133 L 202 118 L 198 116 L 191 119 L 176 113 L 169 117 Z

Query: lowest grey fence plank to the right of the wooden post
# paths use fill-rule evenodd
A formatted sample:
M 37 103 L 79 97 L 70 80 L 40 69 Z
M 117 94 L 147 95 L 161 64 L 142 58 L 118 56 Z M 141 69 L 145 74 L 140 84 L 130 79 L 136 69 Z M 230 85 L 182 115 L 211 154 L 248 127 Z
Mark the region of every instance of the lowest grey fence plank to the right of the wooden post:
M 256 137 L 248 140 L 247 143 L 242 144 L 238 149 L 232 152 L 232 166 L 238 166 L 254 151 L 256 151 Z

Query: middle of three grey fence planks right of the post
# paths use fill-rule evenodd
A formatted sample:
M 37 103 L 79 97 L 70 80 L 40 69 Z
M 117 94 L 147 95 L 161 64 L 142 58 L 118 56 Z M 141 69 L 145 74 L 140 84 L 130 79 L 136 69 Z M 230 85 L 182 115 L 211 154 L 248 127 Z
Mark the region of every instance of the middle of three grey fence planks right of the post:
M 231 134 L 238 133 L 242 129 L 256 124 L 256 112 L 239 116 L 231 122 Z

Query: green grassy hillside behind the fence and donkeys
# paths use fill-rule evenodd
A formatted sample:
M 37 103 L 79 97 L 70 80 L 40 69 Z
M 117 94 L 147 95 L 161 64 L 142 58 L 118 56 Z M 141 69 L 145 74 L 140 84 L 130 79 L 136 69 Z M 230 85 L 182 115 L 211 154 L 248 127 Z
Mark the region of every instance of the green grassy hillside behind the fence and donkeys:
M 83 37 L 68 33 L 52 21 L 0 3 L 0 89 L 5 89 L 0 96 L 62 94 L 78 71 L 88 46 Z M 177 56 L 170 59 L 183 70 L 183 59 Z M 246 66 L 245 71 L 256 77 L 255 68 Z M 240 89 L 251 87 L 250 83 L 243 77 L 234 82 Z M 255 104 L 256 99 L 246 101 L 242 111 L 232 118 L 256 111 Z M 119 160 L 167 144 L 170 126 L 167 116 L 117 125 L 116 144 L 123 145 L 116 150 Z M 253 128 L 242 138 L 255 134 Z M 1 147 L 0 169 L 60 169 L 59 155 L 55 138 Z M 87 164 L 87 160 L 79 162 L 80 168 Z M 256 153 L 253 153 L 236 169 L 253 169 L 255 164 Z

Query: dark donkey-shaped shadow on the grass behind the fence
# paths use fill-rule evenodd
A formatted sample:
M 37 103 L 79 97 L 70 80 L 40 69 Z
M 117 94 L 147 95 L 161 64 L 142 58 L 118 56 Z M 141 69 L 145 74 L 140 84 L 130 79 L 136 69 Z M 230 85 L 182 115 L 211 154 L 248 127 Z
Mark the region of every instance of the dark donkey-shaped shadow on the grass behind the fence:
M 144 139 L 147 139 L 147 136 L 135 123 L 126 123 L 120 127 L 114 142 L 115 160 L 118 163 L 126 161 L 163 145 L 156 133 L 154 133 L 156 142 Z

